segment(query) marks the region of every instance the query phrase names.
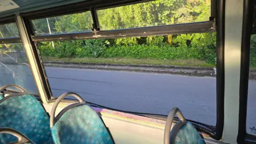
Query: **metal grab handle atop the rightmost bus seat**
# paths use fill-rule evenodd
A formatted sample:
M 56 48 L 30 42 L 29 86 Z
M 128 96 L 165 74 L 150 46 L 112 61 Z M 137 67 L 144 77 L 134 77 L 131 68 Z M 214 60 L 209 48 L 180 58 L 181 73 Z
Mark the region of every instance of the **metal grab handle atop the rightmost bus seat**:
M 181 123 L 180 122 L 179 122 L 179 124 L 177 123 L 179 125 L 179 127 L 181 127 L 180 126 L 181 124 L 184 125 L 187 123 L 187 121 L 184 118 L 184 116 L 182 115 L 180 109 L 177 107 L 172 108 L 167 119 L 166 119 L 166 123 L 165 123 L 165 127 L 164 127 L 164 144 L 170 144 L 170 131 L 171 131 L 171 126 L 172 126 L 174 116 L 176 114 L 181 121 Z

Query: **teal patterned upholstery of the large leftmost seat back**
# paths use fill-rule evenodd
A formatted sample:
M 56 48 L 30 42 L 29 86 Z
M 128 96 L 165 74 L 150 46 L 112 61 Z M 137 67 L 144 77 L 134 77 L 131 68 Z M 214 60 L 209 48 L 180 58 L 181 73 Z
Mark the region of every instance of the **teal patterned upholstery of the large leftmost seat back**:
M 15 129 L 35 143 L 52 143 L 49 116 L 33 95 L 6 98 L 0 101 L 0 127 Z M 6 134 L 0 134 L 0 139 L 1 143 L 17 141 Z

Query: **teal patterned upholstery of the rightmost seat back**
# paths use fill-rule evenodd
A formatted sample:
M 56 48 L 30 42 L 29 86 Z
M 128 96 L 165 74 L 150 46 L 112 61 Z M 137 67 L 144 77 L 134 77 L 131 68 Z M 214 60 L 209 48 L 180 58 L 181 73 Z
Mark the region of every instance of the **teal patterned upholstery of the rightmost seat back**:
M 204 140 L 198 134 L 195 127 L 187 122 L 186 125 L 183 125 L 175 138 L 175 144 L 183 144 L 183 143 L 201 143 L 204 144 Z

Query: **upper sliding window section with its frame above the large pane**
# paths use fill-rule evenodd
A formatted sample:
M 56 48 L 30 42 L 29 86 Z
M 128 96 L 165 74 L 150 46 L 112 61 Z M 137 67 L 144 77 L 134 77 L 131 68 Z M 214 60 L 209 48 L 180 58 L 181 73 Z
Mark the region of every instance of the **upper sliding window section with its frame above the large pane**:
M 31 17 L 33 41 L 208 33 L 215 30 L 211 7 L 210 0 L 158 0 L 110 8 L 84 7 L 87 11 L 83 13 L 44 19 Z

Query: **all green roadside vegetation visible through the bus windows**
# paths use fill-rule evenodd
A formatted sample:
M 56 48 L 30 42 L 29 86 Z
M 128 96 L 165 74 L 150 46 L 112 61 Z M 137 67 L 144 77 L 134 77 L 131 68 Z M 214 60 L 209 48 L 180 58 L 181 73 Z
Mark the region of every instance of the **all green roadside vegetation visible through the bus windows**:
M 101 30 L 172 25 L 209 20 L 210 0 L 158 0 L 97 11 Z M 90 31 L 90 12 L 32 21 L 36 35 Z M 0 27 L 0 38 L 14 26 Z M 50 28 L 50 29 L 49 29 Z M 13 30 L 14 29 L 14 30 Z M 16 28 L 17 29 L 17 28 Z M 44 61 L 214 67 L 216 33 L 86 39 L 37 43 Z M 5 45 L 0 45 L 5 50 Z M 8 46 L 8 47 L 12 47 Z M 20 46 L 13 45 L 19 50 Z M 256 36 L 250 66 L 256 66 Z

